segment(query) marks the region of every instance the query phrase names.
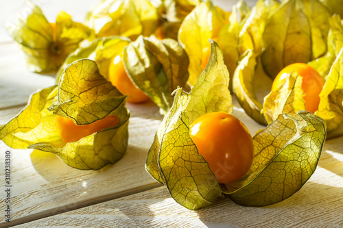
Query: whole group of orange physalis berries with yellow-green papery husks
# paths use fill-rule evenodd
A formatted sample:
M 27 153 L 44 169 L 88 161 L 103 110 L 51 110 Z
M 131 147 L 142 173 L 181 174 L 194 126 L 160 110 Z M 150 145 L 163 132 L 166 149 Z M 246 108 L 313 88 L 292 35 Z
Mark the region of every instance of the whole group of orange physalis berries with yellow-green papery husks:
M 153 101 L 164 118 L 145 168 L 178 203 L 282 201 L 311 177 L 327 132 L 343 124 L 335 4 L 239 1 L 225 12 L 210 0 L 104 0 L 85 24 L 64 12 L 49 23 L 30 4 L 8 31 L 29 70 L 58 70 L 56 86 L 32 94 L 0 139 L 99 169 L 126 151 L 126 101 Z M 231 92 L 265 129 L 250 136 L 232 115 Z

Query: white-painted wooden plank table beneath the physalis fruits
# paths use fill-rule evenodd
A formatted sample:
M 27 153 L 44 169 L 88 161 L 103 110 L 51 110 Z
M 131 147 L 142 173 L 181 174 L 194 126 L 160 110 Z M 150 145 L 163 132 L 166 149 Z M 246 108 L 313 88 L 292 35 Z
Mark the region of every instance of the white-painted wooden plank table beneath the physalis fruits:
M 38 0 L 37 0 L 38 1 Z M 65 10 L 81 21 L 93 1 L 40 0 L 53 21 Z M 235 1 L 217 1 L 226 10 Z M 0 8 L 0 124 L 23 109 L 29 94 L 54 77 L 27 71 L 23 54 L 3 27 L 23 1 Z M 235 103 L 234 114 L 252 134 L 262 126 Z M 296 194 L 268 207 L 242 207 L 222 199 L 196 212 L 178 205 L 144 170 L 162 116 L 152 103 L 128 105 L 128 151 L 101 170 L 76 170 L 55 155 L 10 149 L 0 142 L 0 227 L 343 227 L 343 137 L 328 140 L 318 168 Z M 5 151 L 12 154 L 10 223 L 5 215 Z

